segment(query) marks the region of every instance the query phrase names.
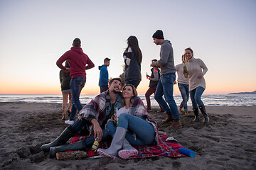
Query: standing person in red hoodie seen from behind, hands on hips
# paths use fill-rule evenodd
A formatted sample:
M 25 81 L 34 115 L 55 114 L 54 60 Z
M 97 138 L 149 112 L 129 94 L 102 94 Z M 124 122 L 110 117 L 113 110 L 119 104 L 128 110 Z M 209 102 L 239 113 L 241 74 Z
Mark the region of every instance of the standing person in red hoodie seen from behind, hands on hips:
M 70 68 L 63 66 L 63 62 L 68 60 Z M 82 88 L 85 86 L 86 81 L 86 69 L 91 69 L 95 67 L 95 64 L 90 60 L 90 58 L 82 52 L 81 41 L 79 38 L 73 40 L 73 47 L 71 50 L 65 52 L 58 61 L 56 62 L 57 66 L 60 69 L 63 69 L 64 72 L 70 72 L 72 77 L 70 81 L 70 89 L 72 93 L 72 109 L 69 120 L 65 120 L 66 124 L 73 125 L 75 119 L 76 111 L 82 110 L 82 104 L 80 103 L 80 93 Z

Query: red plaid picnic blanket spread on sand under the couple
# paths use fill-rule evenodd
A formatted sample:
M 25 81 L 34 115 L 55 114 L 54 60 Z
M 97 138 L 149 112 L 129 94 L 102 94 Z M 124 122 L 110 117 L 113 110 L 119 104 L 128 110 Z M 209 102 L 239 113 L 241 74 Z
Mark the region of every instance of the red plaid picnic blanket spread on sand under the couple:
M 144 157 L 187 157 L 184 154 L 180 154 L 178 150 L 182 147 L 178 142 L 167 141 L 167 135 L 159 135 L 159 146 L 150 145 L 150 146 L 134 146 L 135 149 L 139 151 L 134 158 L 144 158 Z M 75 136 L 70 143 L 78 142 L 80 140 L 85 140 L 87 136 Z M 100 142 L 100 148 L 107 149 L 110 146 L 110 143 Z M 88 149 L 89 150 L 89 149 Z M 88 151 L 87 150 L 87 151 Z

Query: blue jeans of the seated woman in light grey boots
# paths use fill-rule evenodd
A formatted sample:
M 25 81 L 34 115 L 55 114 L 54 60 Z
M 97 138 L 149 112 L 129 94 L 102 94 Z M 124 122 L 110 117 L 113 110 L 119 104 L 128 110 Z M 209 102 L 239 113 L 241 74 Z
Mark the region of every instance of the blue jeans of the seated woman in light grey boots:
M 153 125 L 135 115 L 122 113 L 119 116 L 118 127 L 128 130 L 125 138 L 131 145 L 151 145 L 154 142 L 155 131 Z M 112 136 L 117 129 L 112 121 L 107 123 L 106 128 Z

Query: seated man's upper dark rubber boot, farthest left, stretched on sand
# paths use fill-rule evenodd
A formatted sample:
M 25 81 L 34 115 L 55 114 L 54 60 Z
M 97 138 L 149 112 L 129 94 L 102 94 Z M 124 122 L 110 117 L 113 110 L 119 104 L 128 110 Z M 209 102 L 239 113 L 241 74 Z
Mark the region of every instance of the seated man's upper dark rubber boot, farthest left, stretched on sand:
M 73 137 L 75 135 L 75 133 L 73 132 L 73 130 L 70 130 L 70 126 L 68 128 L 65 128 L 65 130 L 60 134 L 59 137 L 57 137 L 53 142 L 49 143 L 49 144 L 45 144 L 41 146 L 41 149 L 44 152 L 48 152 L 50 147 L 56 147 L 59 145 L 64 145 L 65 142 L 67 142 L 70 137 Z

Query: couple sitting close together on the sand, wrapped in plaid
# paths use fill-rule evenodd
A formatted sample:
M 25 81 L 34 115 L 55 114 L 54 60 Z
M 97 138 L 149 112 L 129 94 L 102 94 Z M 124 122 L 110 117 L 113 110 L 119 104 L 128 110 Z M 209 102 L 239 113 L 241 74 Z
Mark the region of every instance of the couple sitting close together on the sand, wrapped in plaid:
M 121 79 L 111 79 L 109 90 L 90 101 L 82 108 L 78 120 L 73 125 L 65 128 L 53 142 L 42 145 L 41 149 L 49 152 L 50 157 L 55 157 L 57 152 L 90 148 L 95 137 L 102 142 L 112 137 L 111 146 L 107 149 L 97 149 L 97 152 L 104 157 L 119 156 L 127 159 L 138 154 L 137 149 L 132 145 L 158 145 L 156 122 L 150 118 L 142 99 L 137 96 L 136 89 L 131 84 L 127 84 L 121 93 L 121 86 Z M 119 115 L 118 123 L 116 115 Z M 70 137 L 91 125 L 90 137 L 80 142 L 66 144 Z

